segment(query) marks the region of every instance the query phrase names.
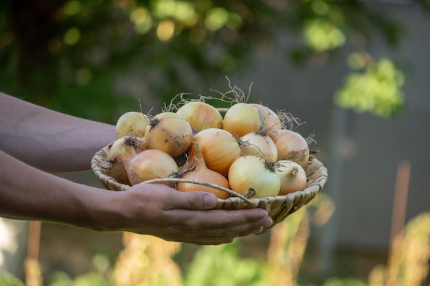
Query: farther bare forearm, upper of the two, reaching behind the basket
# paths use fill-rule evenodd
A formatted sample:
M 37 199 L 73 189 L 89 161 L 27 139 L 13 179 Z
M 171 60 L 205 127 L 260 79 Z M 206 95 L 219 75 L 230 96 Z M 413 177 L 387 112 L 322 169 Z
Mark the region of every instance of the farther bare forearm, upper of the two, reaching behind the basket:
M 90 168 L 115 126 L 48 110 L 0 93 L 0 150 L 45 171 Z

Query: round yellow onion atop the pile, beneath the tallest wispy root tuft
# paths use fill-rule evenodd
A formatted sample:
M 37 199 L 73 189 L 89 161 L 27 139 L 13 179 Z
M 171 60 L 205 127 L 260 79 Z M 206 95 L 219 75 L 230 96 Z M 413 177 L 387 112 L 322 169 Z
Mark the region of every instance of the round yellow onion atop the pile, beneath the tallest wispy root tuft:
M 267 121 L 260 110 L 244 102 L 234 104 L 224 115 L 223 129 L 233 136 L 241 137 L 251 132 L 264 130 L 266 126 Z

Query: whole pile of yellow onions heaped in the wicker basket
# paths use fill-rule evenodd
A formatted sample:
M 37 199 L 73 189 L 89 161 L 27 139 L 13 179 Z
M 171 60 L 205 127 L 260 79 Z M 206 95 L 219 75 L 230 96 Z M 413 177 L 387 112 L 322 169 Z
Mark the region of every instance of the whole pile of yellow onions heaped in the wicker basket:
M 268 106 L 230 104 L 215 108 L 183 100 L 176 110 L 155 116 L 126 112 L 117 121 L 117 140 L 104 167 L 123 184 L 150 180 L 178 191 L 207 191 L 220 199 L 231 195 L 223 189 L 247 198 L 304 190 L 306 139 L 288 130 L 279 112 Z

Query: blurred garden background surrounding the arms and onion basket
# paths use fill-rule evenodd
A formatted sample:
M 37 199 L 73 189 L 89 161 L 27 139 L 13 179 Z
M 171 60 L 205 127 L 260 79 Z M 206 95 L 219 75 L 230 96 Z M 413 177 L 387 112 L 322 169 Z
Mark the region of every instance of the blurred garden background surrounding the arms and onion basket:
M 0 285 L 429 285 L 429 13 L 423 0 L 1 1 L 3 93 L 115 123 L 228 78 L 315 134 L 329 180 L 227 246 L 0 219 Z M 102 187 L 91 171 L 58 176 Z

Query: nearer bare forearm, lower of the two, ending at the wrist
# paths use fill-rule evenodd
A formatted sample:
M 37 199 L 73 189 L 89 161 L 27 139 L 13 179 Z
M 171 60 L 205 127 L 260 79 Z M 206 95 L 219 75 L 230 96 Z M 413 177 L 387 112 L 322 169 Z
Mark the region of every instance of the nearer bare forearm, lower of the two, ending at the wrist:
M 0 151 L 0 216 L 102 230 L 114 192 L 77 184 Z

